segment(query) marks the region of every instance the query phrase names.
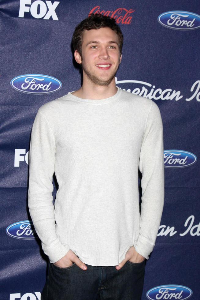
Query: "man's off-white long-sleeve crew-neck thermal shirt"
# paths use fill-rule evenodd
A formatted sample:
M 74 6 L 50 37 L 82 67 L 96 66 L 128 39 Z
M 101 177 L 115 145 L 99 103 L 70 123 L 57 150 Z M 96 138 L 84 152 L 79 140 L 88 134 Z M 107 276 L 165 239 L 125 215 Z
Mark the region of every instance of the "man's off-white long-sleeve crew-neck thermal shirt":
M 163 126 L 154 101 L 118 88 L 106 99 L 69 92 L 45 103 L 29 163 L 29 211 L 50 262 L 72 249 L 83 263 L 113 266 L 131 246 L 149 258 L 164 202 Z

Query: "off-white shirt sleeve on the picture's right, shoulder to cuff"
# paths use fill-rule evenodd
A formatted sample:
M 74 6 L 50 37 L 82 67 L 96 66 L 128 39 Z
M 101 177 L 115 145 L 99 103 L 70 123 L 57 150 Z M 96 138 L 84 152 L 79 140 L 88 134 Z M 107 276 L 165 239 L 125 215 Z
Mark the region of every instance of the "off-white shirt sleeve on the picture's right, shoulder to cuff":
M 152 252 L 164 205 L 164 146 L 160 110 L 152 101 L 140 151 L 142 203 L 135 250 L 146 259 Z

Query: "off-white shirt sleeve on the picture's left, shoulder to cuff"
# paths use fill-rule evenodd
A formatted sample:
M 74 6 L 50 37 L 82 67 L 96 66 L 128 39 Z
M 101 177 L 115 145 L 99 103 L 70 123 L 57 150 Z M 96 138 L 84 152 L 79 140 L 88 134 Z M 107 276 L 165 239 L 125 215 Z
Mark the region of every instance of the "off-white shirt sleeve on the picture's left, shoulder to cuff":
M 55 155 L 54 135 L 46 118 L 38 111 L 29 149 L 28 207 L 43 251 L 51 263 L 64 257 L 70 249 L 61 243 L 55 231 L 52 196 Z

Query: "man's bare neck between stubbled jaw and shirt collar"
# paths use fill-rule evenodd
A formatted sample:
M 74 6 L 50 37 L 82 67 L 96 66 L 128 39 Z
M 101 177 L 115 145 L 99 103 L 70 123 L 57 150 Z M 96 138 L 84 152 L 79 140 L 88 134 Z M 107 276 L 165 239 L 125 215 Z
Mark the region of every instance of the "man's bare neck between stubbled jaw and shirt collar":
M 114 96 L 116 93 L 115 77 L 108 85 L 97 85 L 84 80 L 83 76 L 83 85 L 72 94 L 83 99 L 106 99 Z

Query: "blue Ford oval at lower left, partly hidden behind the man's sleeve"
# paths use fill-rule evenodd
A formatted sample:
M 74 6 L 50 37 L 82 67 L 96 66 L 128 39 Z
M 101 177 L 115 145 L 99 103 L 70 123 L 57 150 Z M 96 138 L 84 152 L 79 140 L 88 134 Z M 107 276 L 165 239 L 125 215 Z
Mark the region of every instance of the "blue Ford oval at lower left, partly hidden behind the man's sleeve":
M 12 238 L 28 239 L 32 240 L 37 238 L 35 236 L 35 229 L 32 222 L 20 221 L 13 223 L 6 228 L 6 233 Z

